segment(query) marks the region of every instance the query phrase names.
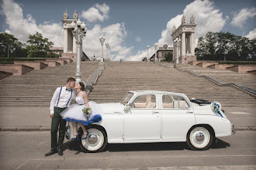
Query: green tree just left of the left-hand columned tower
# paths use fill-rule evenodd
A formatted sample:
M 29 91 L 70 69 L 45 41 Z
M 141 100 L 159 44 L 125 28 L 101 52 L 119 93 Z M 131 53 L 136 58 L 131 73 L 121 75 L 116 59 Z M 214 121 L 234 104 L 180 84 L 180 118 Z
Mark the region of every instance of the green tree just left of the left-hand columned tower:
M 29 35 L 27 42 L 29 43 L 29 46 L 27 46 L 29 57 L 52 56 L 50 47 L 54 46 L 54 42 L 49 41 L 47 38 L 44 39 L 39 32 L 36 32 L 35 35 Z

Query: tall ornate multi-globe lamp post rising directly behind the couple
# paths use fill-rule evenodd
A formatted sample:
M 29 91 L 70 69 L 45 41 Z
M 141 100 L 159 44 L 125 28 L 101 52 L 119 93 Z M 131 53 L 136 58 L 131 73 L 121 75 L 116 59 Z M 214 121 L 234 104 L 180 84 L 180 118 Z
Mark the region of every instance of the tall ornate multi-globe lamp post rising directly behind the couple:
M 80 19 L 74 23 L 71 23 L 72 34 L 76 39 L 77 44 L 77 70 L 75 72 L 75 81 L 76 83 L 81 81 L 81 47 L 82 40 L 85 39 L 85 34 L 87 32 L 87 28 L 85 26 L 85 22 L 81 22 Z

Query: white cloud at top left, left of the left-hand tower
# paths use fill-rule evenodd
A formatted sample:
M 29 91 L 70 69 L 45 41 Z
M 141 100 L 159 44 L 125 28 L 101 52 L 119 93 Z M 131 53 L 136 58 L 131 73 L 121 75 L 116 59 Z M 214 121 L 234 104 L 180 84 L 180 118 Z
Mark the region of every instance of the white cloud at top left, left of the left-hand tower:
M 24 18 L 22 8 L 12 0 L 2 1 L 2 13 L 6 16 L 6 23 L 9 32 L 16 36 L 21 42 L 28 40 L 29 34 L 33 35 L 40 32 L 44 38 L 48 38 L 54 42 L 54 46 L 63 46 L 63 29 L 61 23 L 43 23 L 39 26 L 36 25 L 36 20 L 32 15 L 26 15 Z

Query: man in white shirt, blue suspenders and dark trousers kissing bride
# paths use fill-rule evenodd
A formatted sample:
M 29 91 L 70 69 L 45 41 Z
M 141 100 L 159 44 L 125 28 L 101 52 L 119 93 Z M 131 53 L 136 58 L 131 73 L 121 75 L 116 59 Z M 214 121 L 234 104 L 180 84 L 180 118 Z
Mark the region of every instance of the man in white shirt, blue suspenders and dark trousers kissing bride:
M 57 87 L 54 96 L 50 100 L 50 118 L 51 120 L 51 148 L 45 156 L 50 156 L 58 153 L 63 155 L 62 145 L 66 131 L 66 121 L 62 119 L 61 112 L 64 111 L 71 104 L 71 100 L 75 99 L 76 93 L 74 88 L 74 78 L 69 77 L 67 84 L 64 87 Z M 60 128 L 59 128 L 60 125 Z M 57 129 L 59 128 L 59 140 L 57 142 Z

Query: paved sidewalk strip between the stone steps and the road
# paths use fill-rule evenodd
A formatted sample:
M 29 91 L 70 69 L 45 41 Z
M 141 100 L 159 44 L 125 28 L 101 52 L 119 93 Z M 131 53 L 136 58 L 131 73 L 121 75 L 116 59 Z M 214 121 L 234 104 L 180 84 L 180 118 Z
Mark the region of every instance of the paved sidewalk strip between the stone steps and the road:
M 224 108 L 225 114 L 237 130 L 256 127 L 256 110 L 253 108 Z M 49 107 L 1 107 L 1 131 L 45 131 L 50 130 Z

